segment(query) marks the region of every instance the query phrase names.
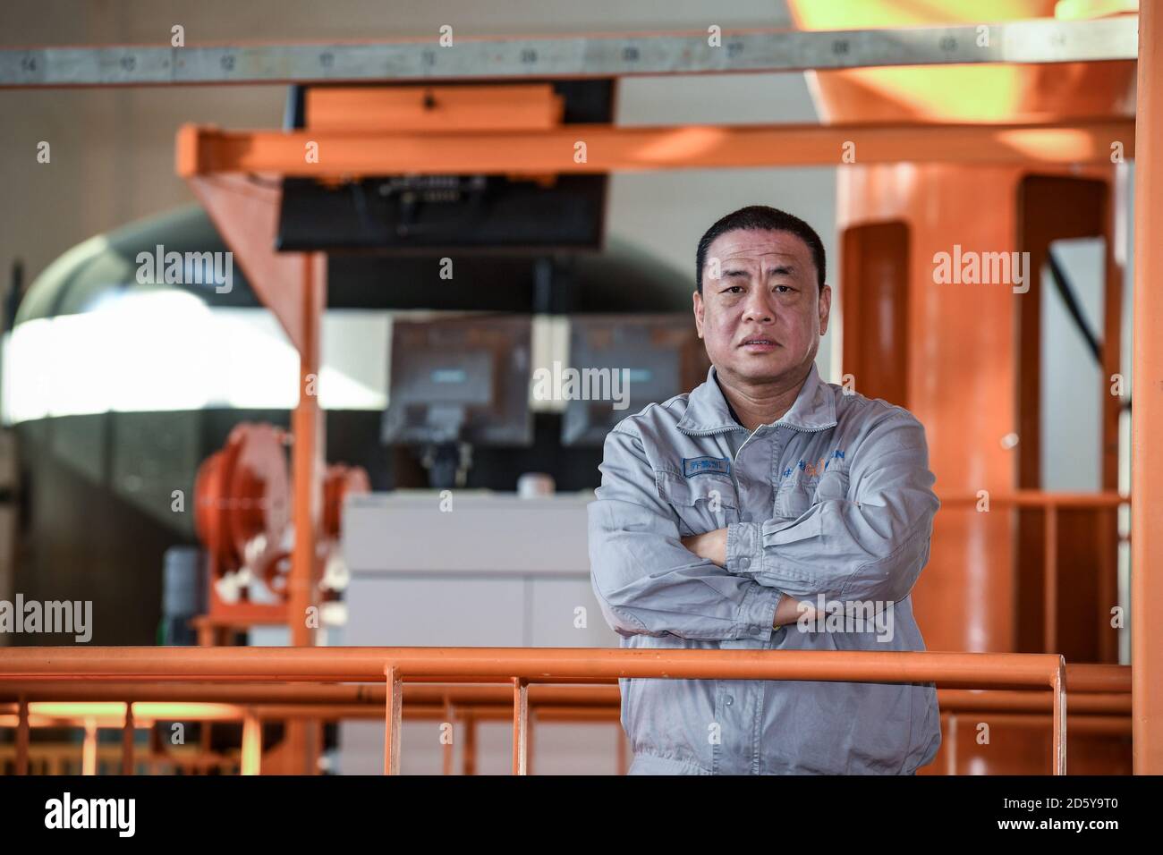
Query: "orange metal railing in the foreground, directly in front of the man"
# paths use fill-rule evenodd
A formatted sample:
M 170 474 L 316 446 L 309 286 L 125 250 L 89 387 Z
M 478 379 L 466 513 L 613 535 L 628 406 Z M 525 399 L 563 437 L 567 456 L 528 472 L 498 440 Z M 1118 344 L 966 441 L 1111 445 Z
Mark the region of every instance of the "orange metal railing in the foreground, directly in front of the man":
M 1054 654 L 591 648 L 13 648 L 0 684 L 20 682 L 384 683 L 384 771 L 399 774 L 404 683 L 512 686 L 513 772 L 528 771 L 529 687 L 619 677 L 935 683 L 942 689 L 1047 689 L 1053 774 L 1066 771 L 1065 663 Z M 27 746 L 27 700 L 21 704 Z M 244 771 L 257 767 L 251 717 Z M 245 728 L 244 728 L 245 729 Z

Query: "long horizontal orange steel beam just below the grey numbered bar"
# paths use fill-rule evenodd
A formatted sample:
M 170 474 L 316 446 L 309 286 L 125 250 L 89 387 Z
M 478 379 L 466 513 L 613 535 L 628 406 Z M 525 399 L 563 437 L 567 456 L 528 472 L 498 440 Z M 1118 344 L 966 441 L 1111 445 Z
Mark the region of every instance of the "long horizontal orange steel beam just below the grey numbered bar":
M 570 124 L 542 131 L 415 134 L 227 131 L 186 124 L 178 130 L 178 173 L 186 178 L 223 172 L 344 178 L 839 166 L 846 151 L 855 163 L 1110 163 L 1111 143 L 1132 138 L 1130 119 L 1020 124 Z M 308 163 L 312 143 L 317 147 L 317 161 Z

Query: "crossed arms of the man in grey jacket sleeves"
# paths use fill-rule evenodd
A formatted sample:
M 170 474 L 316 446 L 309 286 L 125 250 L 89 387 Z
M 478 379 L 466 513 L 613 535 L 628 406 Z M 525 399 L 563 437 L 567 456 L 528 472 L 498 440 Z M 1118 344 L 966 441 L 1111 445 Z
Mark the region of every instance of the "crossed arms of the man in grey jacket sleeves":
M 839 473 L 827 489 L 821 479 L 798 519 L 679 537 L 641 439 L 615 429 L 590 505 L 592 582 L 607 621 L 621 634 L 768 639 L 800 617 L 800 600 L 819 594 L 904 599 L 928 560 L 940 506 L 923 428 L 897 411 L 850 459 L 849 486 L 840 487 Z

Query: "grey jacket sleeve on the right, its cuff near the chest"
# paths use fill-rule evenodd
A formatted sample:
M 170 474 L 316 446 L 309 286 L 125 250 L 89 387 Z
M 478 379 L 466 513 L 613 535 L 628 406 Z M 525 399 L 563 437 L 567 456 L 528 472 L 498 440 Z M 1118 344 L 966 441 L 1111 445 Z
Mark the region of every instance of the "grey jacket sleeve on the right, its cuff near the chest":
M 941 506 L 925 428 L 898 411 L 873 425 L 850 458 L 847 475 L 820 476 L 814 504 L 798 519 L 729 525 L 727 569 L 798 599 L 905 599 L 928 562 Z

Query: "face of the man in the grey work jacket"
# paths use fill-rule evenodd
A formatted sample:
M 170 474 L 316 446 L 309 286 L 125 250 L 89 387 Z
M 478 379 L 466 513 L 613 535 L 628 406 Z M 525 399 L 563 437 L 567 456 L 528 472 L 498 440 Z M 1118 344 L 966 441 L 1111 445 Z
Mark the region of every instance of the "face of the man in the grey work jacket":
M 739 229 L 719 235 L 707 250 L 694 323 L 720 375 L 771 383 L 807 371 L 830 307 L 832 288 L 816 293 L 815 264 L 802 240 L 790 231 Z

